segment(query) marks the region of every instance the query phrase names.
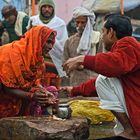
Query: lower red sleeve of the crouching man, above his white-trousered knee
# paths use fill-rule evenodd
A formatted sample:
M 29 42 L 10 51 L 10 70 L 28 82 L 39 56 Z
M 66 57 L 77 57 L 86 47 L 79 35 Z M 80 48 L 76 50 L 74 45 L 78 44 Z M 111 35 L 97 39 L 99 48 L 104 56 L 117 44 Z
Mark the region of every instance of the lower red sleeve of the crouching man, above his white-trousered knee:
M 95 79 L 90 79 L 79 86 L 73 87 L 71 96 L 87 96 L 87 97 L 97 97 L 95 89 Z

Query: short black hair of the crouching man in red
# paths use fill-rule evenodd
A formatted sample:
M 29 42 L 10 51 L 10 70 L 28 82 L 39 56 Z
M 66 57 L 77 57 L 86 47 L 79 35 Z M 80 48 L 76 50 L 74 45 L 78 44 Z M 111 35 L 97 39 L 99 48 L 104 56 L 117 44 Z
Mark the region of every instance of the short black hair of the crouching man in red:
M 107 15 L 104 27 L 106 29 L 112 28 L 116 32 L 116 37 L 121 39 L 125 36 L 132 36 L 132 25 L 130 18 L 118 14 Z

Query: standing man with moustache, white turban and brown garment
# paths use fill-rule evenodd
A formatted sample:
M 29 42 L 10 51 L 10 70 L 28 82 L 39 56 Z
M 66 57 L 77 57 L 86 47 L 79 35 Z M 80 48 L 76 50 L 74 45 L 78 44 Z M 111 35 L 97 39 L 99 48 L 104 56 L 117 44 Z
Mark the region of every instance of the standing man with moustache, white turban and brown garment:
M 77 7 L 73 10 L 77 33 L 67 39 L 64 46 L 63 61 L 79 55 L 95 55 L 98 49 L 100 32 L 93 30 L 95 23 L 94 13 L 90 13 L 84 7 Z M 77 86 L 80 83 L 97 76 L 97 73 L 90 70 L 73 70 L 69 73 L 70 85 Z

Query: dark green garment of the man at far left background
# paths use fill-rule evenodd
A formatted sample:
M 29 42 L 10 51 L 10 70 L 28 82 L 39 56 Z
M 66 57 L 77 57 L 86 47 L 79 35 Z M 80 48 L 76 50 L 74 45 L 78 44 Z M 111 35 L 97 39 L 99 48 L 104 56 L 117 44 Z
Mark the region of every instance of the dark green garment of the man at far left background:
M 28 25 L 28 21 L 29 21 L 29 17 L 25 16 L 23 18 L 23 22 L 22 22 L 22 33 L 23 34 L 27 31 L 26 27 Z M 3 27 L 7 30 L 8 34 L 9 34 L 9 41 L 10 42 L 12 42 L 14 40 L 18 40 L 20 38 L 19 36 L 17 36 L 17 34 L 15 32 L 15 24 L 11 25 L 6 20 L 4 20 L 2 22 L 2 24 L 3 24 Z

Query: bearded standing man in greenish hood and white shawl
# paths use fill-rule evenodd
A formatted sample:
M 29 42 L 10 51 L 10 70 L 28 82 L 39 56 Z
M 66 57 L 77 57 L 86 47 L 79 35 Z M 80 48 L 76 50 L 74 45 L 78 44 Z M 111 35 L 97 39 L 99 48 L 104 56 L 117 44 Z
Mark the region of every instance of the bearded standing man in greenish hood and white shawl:
M 29 26 L 45 25 L 57 32 L 54 48 L 49 52 L 50 61 L 57 69 L 60 77 L 65 76 L 62 69 L 62 55 L 64 43 L 68 38 L 65 22 L 55 15 L 55 3 L 53 0 L 40 0 L 39 14 L 30 18 Z M 47 56 L 49 59 L 49 56 Z M 49 64 L 48 64 L 49 65 Z M 50 66 L 50 65 L 49 65 Z

